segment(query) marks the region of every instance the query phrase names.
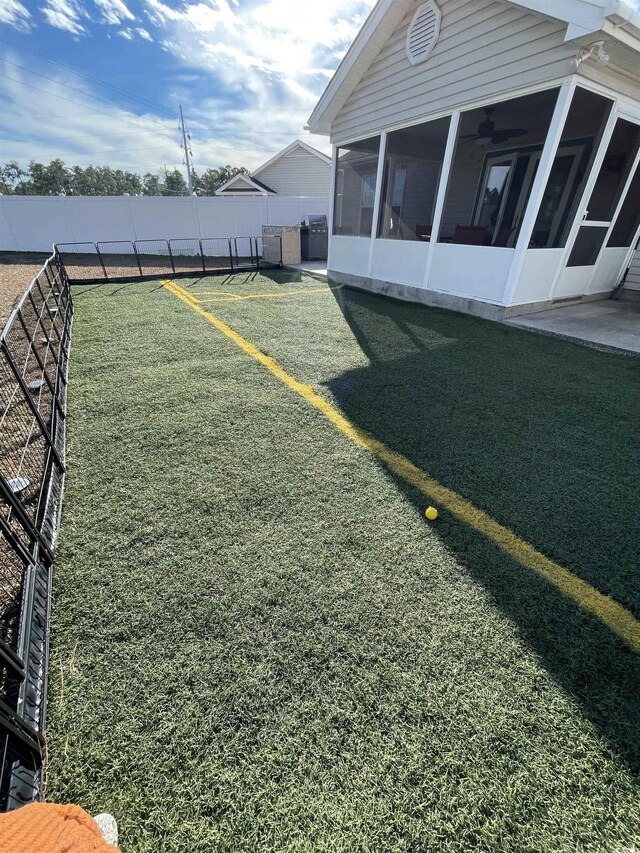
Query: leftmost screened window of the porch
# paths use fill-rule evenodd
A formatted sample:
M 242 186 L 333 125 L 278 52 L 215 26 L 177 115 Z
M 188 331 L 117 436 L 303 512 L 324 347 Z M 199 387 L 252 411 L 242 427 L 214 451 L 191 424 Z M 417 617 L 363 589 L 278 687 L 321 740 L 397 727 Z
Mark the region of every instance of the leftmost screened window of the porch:
M 333 233 L 370 237 L 380 137 L 338 148 Z

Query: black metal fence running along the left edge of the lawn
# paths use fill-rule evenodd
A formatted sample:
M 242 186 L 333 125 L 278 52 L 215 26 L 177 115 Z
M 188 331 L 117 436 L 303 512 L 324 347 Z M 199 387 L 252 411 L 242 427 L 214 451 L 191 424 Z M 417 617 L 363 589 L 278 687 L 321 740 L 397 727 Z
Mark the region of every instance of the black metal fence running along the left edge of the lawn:
M 0 335 L 0 808 L 37 798 L 73 307 L 54 255 Z

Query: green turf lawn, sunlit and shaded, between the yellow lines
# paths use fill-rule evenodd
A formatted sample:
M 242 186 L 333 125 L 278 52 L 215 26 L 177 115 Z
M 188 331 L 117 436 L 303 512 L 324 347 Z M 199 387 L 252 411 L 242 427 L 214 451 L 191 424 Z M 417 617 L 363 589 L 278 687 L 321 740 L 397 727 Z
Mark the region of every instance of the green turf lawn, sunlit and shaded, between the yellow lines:
M 347 289 L 205 307 L 640 617 L 640 361 Z M 640 846 L 640 655 L 158 283 L 75 308 L 48 799 L 125 853 Z

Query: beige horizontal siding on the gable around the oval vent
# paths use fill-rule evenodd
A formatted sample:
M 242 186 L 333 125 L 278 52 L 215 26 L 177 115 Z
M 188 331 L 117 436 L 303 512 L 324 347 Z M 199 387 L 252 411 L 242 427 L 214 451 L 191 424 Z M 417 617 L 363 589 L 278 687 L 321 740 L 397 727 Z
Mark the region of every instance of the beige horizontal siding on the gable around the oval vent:
M 499 0 L 444 0 L 440 37 L 412 66 L 403 19 L 332 126 L 333 141 L 364 136 L 466 101 L 573 73 L 574 45 L 562 24 Z

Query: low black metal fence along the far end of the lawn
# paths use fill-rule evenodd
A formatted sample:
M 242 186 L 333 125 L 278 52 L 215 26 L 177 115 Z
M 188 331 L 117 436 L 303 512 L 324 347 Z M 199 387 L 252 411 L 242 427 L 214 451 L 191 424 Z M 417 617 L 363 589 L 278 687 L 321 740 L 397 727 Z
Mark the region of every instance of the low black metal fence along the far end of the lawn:
M 71 284 L 168 275 L 189 277 L 282 266 L 282 240 L 278 235 L 57 243 L 55 251 Z

